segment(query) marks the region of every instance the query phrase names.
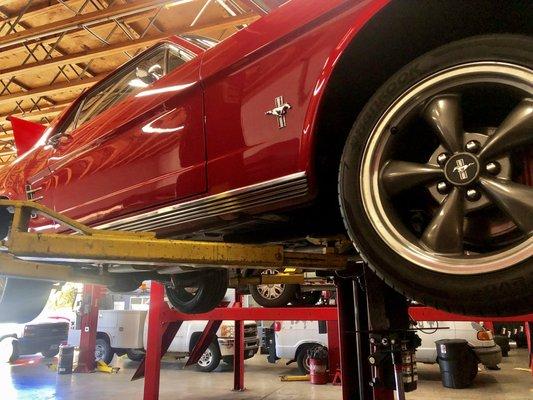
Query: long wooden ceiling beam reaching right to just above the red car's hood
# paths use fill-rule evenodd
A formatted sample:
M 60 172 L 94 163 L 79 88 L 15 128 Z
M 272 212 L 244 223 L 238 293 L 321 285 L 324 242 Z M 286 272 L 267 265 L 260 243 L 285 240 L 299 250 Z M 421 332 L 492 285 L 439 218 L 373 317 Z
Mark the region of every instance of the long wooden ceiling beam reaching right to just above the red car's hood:
M 231 26 L 249 24 L 259 18 L 256 14 L 243 14 L 237 17 L 224 18 L 221 21 L 215 23 L 197 25 L 194 29 L 184 29 L 182 32 L 177 32 L 177 34 L 185 33 L 200 33 L 210 30 L 222 30 Z M 58 67 L 65 64 L 76 64 L 85 60 L 92 58 L 101 58 L 108 57 L 112 54 L 120 53 L 123 51 L 134 50 L 140 47 L 151 46 L 170 35 L 169 32 L 163 32 L 157 35 L 151 35 L 144 37 L 142 39 L 131 40 L 127 42 L 121 42 L 112 44 L 110 46 L 86 50 L 79 53 L 73 53 L 64 55 L 61 57 L 55 57 L 46 61 L 39 61 L 30 64 L 25 64 L 21 66 L 5 68 L 0 70 L 0 79 L 9 78 L 11 76 L 22 76 L 31 73 L 37 73 L 42 70 Z

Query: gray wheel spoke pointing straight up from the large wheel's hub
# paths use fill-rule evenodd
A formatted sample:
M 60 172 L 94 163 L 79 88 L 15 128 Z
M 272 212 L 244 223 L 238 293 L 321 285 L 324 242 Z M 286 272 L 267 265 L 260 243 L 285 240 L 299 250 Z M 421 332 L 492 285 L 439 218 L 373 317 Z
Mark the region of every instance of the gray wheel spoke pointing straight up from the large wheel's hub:
M 434 98 L 424 110 L 424 118 L 439 135 L 440 141 L 451 152 L 463 148 L 463 115 L 461 98 L 445 94 Z

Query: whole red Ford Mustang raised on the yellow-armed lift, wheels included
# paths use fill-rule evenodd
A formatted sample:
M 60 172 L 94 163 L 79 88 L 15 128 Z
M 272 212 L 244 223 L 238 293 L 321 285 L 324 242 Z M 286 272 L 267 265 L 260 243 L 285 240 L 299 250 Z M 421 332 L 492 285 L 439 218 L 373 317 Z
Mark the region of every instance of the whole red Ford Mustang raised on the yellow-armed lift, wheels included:
M 75 101 L 0 194 L 166 237 L 346 235 L 411 298 L 532 311 L 532 20 L 528 1 L 292 0 L 207 50 L 170 38 Z M 210 271 L 171 302 L 218 304 Z

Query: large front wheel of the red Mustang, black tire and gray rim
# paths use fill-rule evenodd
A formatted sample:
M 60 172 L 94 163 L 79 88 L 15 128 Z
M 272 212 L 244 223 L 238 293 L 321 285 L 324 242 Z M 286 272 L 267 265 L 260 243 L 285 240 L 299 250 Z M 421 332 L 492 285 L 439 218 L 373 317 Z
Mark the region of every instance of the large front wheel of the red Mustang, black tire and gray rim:
M 407 297 L 462 314 L 532 310 L 532 65 L 532 38 L 468 38 L 408 64 L 359 114 L 341 211 Z

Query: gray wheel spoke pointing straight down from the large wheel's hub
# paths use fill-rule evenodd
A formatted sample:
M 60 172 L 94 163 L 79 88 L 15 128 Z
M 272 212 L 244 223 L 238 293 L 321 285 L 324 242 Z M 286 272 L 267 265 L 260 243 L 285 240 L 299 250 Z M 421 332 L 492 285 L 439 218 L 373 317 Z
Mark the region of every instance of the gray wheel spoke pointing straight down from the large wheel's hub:
M 422 235 L 422 243 L 439 253 L 463 253 L 463 195 L 457 188 L 448 195 Z

